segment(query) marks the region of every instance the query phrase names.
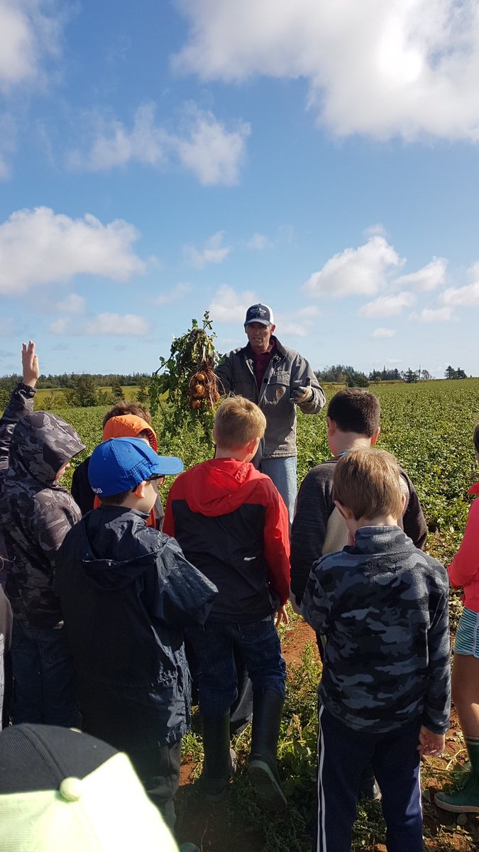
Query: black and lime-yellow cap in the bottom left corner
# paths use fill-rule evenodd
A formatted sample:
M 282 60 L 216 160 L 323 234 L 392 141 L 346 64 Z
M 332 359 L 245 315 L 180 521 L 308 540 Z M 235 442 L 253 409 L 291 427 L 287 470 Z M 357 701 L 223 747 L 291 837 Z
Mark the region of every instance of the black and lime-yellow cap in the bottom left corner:
M 0 849 L 176 852 L 129 758 L 72 728 L 0 733 Z

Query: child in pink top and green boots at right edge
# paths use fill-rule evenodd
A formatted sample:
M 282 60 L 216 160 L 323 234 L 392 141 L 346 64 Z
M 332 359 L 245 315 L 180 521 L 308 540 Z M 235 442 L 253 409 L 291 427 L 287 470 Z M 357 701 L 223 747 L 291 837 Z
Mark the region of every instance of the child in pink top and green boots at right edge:
M 474 430 L 479 461 L 479 424 Z M 469 489 L 479 494 L 479 482 Z M 454 644 L 453 702 L 465 738 L 470 775 L 462 790 L 436 793 L 436 805 L 448 811 L 479 814 L 479 500 L 470 506 L 464 538 L 447 568 L 453 588 L 464 589 L 464 609 Z

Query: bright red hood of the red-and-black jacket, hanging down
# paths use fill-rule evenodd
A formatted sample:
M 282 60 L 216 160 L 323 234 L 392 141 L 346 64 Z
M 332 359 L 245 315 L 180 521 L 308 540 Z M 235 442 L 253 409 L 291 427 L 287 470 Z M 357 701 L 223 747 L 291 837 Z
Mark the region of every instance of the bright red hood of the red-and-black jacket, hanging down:
M 216 517 L 234 512 L 257 487 L 257 469 L 235 458 L 212 458 L 188 470 L 182 481 L 182 496 L 193 512 Z

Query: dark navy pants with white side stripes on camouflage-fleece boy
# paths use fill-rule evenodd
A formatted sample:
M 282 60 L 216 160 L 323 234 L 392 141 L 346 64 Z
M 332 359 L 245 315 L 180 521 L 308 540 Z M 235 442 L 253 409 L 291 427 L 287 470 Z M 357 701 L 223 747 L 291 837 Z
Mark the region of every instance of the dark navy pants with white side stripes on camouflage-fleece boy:
M 388 852 L 423 852 L 420 722 L 385 734 L 348 728 L 320 706 L 316 852 L 349 852 L 361 774 L 368 763 L 382 792 Z

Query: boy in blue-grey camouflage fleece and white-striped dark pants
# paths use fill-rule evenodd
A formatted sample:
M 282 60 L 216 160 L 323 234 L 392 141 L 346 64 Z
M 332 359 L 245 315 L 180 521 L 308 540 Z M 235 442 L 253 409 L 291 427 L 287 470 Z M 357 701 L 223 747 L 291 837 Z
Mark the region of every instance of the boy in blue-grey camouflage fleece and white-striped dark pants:
M 387 452 L 339 458 L 334 502 L 355 544 L 315 562 L 303 616 L 326 635 L 319 688 L 318 852 L 349 852 L 361 775 L 382 792 L 387 848 L 423 852 L 420 755 L 444 747 L 450 705 L 447 574 L 398 526 Z

